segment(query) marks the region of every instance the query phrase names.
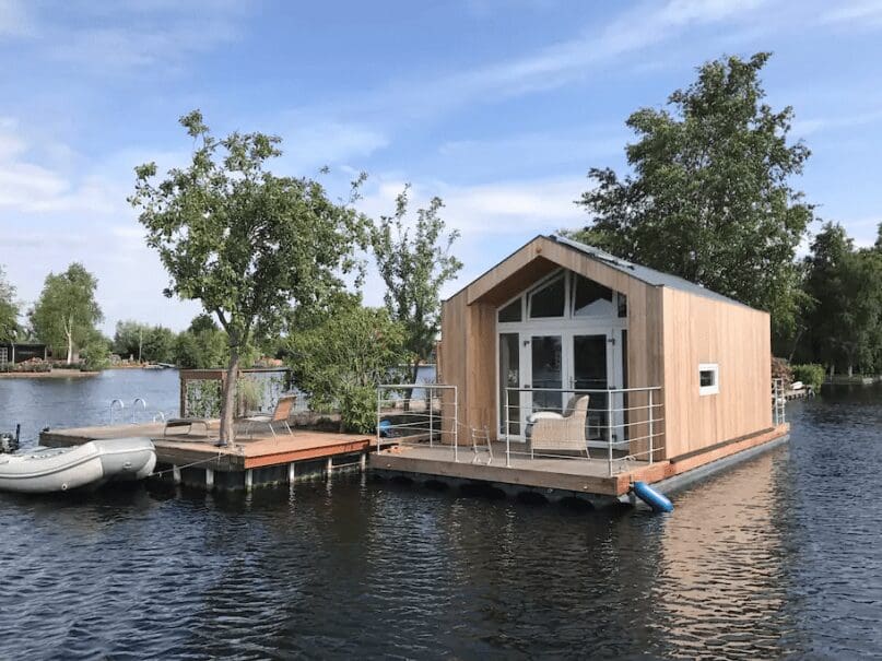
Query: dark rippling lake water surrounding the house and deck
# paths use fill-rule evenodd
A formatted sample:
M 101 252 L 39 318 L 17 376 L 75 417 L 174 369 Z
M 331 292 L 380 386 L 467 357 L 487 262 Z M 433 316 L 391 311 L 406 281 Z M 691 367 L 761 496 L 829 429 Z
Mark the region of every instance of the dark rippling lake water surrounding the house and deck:
M 0 380 L 0 429 L 174 410 L 174 373 Z M 586 512 L 337 477 L 250 496 L 0 494 L 0 658 L 882 656 L 882 390 L 788 405 L 787 446 Z

